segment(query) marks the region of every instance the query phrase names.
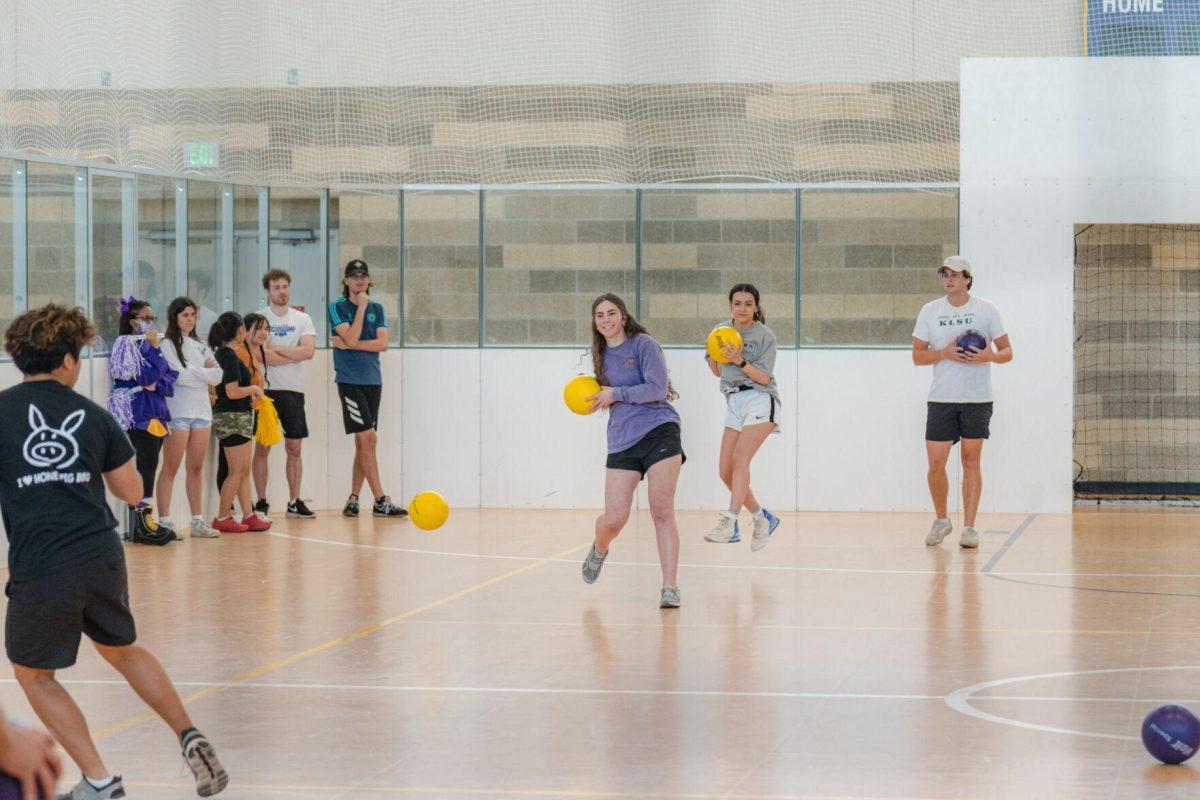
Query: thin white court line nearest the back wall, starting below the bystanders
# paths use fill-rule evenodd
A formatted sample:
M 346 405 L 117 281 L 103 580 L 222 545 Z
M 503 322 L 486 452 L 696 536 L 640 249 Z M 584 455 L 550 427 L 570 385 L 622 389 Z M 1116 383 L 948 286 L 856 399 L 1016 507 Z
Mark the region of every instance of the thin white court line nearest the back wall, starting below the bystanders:
M 388 545 L 364 545 L 360 542 L 340 542 L 334 539 L 317 539 L 316 536 L 293 536 L 277 531 L 266 531 L 268 536 L 287 539 L 294 542 L 311 542 L 314 545 L 332 545 L 334 547 L 349 547 L 370 551 L 385 551 L 389 553 L 412 553 L 414 555 L 443 555 L 448 558 L 484 559 L 503 561 L 545 561 L 547 564 L 580 564 L 582 561 L 572 559 L 542 559 L 535 555 L 498 555 L 491 553 L 456 553 L 454 551 L 424 551 L 415 547 L 389 547 Z M 605 561 L 614 566 L 636 566 L 643 569 L 659 569 L 658 561 Z M 691 570 L 745 570 L 752 572 L 833 572 L 847 575 L 984 575 L 979 571 L 970 570 L 875 570 L 864 567 L 834 567 L 834 566 L 788 566 L 772 564 L 680 564 L 680 567 Z M 1163 572 L 990 572 L 995 577 L 1010 578 L 1200 578 L 1200 573 L 1163 573 Z

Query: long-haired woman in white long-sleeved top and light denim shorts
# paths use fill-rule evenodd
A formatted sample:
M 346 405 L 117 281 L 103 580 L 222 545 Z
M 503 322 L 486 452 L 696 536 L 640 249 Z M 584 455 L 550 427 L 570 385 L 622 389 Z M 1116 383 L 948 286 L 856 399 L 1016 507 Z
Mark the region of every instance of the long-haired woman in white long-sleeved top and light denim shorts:
M 175 491 L 179 465 L 187 464 L 187 504 L 192 512 L 192 536 L 214 539 L 217 533 L 204 521 L 200 509 L 200 480 L 204 457 L 212 435 L 212 405 L 209 386 L 221 383 L 221 367 L 212 351 L 196 336 L 196 303 L 187 297 L 175 297 L 167 308 L 167 335 L 162 339 L 162 355 L 172 369 L 179 372 L 175 396 L 167 398 L 170 409 L 170 435 L 163 443 L 162 471 L 158 474 L 158 524 L 175 530 L 170 521 L 170 498 Z

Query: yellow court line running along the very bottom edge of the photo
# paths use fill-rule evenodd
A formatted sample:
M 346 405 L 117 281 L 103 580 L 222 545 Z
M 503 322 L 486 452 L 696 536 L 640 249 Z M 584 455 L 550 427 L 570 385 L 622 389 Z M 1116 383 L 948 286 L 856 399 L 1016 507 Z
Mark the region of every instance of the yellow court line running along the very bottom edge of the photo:
M 166 781 L 126 781 L 131 789 L 178 789 L 182 783 Z M 475 795 L 494 798 L 664 798 L 677 800 L 931 800 L 908 795 L 830 795 L 830 794 L 696 794 L 690 792 L 593 792 L 588 789 L 470 789 L 466 787 L 436 786 L 361 786 L 316 783 L 239 783 L 244 792 L 355 792 L 383 795 Z

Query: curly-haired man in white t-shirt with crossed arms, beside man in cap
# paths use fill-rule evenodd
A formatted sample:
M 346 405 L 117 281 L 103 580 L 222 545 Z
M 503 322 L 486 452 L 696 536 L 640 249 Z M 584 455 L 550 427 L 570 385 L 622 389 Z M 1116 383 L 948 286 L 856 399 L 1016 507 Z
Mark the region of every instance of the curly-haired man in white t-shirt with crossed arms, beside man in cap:
M 312 317 L 293 308 L 292 276 L 283 270 L 270 270 L 263 276 L 269 305 L 259 313 L 266 318 L 271 335 L 266 339 L 266 396 L 275 401 L 283 427 L 283 447 L 287 451 L 288 516 L 312 519 L 317 515 L 300 499 L 300 479 L 304 462 L 300 445 L 308 437 L 308 420 L 304 410 L 304 375 L 300 362 L 312 359 L 317 347 L 317 329 Z M 254 489 L 258 503 L 254 510 L 265 515 L 268 457 L 270 447 L 254 445 Z

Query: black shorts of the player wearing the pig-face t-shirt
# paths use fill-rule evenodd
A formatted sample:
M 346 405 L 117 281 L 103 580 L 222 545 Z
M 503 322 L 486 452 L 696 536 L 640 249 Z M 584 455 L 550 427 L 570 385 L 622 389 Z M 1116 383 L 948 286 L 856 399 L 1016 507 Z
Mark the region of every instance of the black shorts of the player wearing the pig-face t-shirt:
M 22 667 L 66 669 L 76 662 L 84 633 L 112 648 L 138 638 L 120 551 L 40 578 L 10 581 L 5 594 L 5 649 L 8 661 Z

